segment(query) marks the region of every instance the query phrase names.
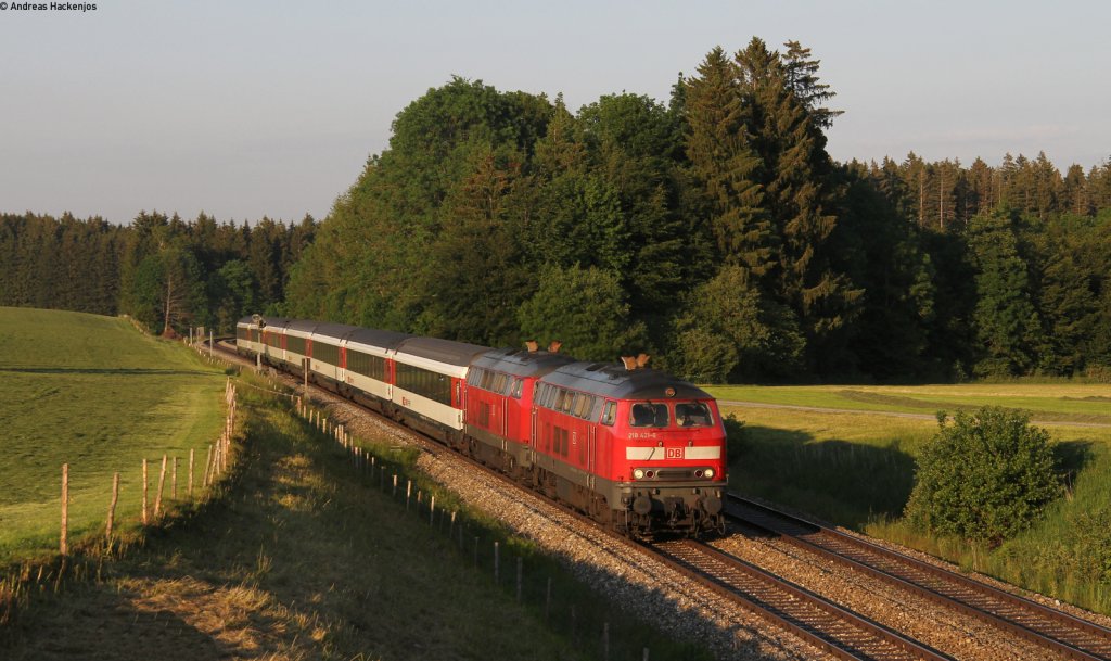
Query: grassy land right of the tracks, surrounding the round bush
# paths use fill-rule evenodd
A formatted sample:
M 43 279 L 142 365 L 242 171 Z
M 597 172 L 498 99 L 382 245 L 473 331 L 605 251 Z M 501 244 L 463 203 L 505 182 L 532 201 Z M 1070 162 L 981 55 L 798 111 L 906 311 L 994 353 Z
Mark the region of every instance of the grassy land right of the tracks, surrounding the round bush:
M 735 490 L 1111 613 L 1111 569 L 1101 574 L 1081 558 L 1080 550 L 1088 542 L 1085 523 L 1101 515 L 1104 521 L 1111 519 L 1111 387 L 999 383 L 708 390 L 723 402 L 765 404 L 723 404 L 747 430 L 741 458 L 730 470 Z M 937 432 L 937 421 L 930 418 L 940 410 L 952 413 L 985 404 L 1025 410 L 1045 427 L 1058 442 L 1068 485 L 1065 495 L 1030 530 L 994 550 L 922 535 L 901 519 L 913 487 L 914 458 Z

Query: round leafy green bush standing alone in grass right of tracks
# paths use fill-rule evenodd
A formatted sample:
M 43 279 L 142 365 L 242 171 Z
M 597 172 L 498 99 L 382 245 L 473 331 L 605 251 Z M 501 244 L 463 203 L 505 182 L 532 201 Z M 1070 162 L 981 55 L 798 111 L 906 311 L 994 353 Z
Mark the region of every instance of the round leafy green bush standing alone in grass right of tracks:
M 1061 493 L 1050 435 L 1028 414 L 985 407 L 938 424 L 907 503 L 915 528 L 998 545 Z

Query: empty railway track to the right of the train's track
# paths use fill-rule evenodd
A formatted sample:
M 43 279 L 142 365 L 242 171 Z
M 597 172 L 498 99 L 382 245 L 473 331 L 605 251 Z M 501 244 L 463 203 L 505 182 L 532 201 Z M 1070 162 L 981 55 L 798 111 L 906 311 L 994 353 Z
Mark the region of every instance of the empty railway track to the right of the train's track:
M 728 515 L 782 541 L 978 618 L 1068 659 L 1111 660 L 1111 630 L 735 494 Z

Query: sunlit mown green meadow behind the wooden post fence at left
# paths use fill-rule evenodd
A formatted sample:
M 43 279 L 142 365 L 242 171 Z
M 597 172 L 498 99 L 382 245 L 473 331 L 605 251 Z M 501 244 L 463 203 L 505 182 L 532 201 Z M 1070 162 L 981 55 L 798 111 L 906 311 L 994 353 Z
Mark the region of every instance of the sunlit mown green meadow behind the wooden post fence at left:
M 143 458 L 152 485 L 163 454 L 198 450 L 202 470 L 223 385 L 222 371 L 123 319 L 0 308 L 0 565 L 57 550 L 63 463 L 71 538 L 103 525 L 113 472 L 126 525 L 139 518 Z

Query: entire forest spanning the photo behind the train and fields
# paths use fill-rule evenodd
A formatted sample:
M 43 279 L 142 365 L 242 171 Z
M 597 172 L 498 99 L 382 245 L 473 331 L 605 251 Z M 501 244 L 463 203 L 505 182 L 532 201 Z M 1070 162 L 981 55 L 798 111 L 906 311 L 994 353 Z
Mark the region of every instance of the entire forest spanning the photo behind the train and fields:
M 835 162 L 819 72 L 754 38 L 575 112 L 454 78 L 319 223 L 0 217 L 0 304 L 560 340 L 697 382 L 1111 381 L 1111 162 Z

